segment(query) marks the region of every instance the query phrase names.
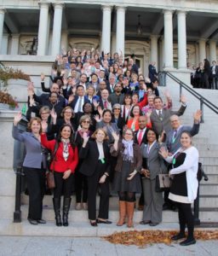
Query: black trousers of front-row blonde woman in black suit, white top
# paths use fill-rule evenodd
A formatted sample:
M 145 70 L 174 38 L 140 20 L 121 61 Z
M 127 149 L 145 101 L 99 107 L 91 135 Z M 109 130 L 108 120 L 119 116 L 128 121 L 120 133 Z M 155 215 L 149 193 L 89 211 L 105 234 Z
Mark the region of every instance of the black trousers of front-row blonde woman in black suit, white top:
M 109 211 L 109 180 L 106 177 L 105 183 L 99 183 L 100 177 L 106 172 L 106 165 L 100 160 L 96 166 L 95 172 L 88 177 L 88 214 L 89 219 L 96 219 L 96 194 L 100 186 L 100 206 L 98 218 L 108 218 Z

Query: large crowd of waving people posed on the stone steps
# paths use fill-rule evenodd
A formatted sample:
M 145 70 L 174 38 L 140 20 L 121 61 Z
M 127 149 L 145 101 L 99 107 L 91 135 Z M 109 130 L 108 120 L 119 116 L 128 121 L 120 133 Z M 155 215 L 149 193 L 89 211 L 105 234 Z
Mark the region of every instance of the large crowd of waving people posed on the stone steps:
M 45 93 L 37 96 L 33 84 L 28 85 L 28 131 L 18 129 L 21 113 L 15 115 L 13 125 L 13 137 L 26 145 L 28 220 L 46 223 L 42 212 L 49 168 L 54 172 L 57 226 L 69 224 L 73 191 L 76 209 L 88 210 L 92 226 L 112 224 L 108 219 L 111 191 L 118 193 L 118 226 L 127 222 L 133 227 L 136 194 L 141 194 L 143 205 L 140 223 L 156 226 L 162 221 L 164 197 L 155 189 L 155 178 L 169 172 L 174 178 L 165 203 L 176 202 L 181 225 L 172 239 L 185 237 L 187 225 L 188 236 L 181 245 L 195 243 L 191 203 L 198 189 L 198 150 L 192 146 L 192 136 L 198 133 L 201 112 L 194 113 L 193 126 L 181 125 L 186 98 L 182 96 L 181 108 L 173 111 L 169 93 L 166 102 L 159 96 L 155 63 L 149 79 L 138 73 L 133 59 L 123 63 L 121 57 L 73 49 L 55 61 L 57 73 L 50 88 L 41 75 Z M 93 68 L 86 70 L 86 63 Z M 50 166 L 46 161 L 49 152 Z

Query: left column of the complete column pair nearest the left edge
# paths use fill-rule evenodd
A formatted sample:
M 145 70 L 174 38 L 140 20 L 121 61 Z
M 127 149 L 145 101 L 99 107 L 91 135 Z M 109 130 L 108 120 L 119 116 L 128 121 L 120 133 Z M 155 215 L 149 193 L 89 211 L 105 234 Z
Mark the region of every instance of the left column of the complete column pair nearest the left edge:
M 37 55 L 45 55 L 49 21 L 49 3 L 39 3 L 40 16 L 37 35 Z

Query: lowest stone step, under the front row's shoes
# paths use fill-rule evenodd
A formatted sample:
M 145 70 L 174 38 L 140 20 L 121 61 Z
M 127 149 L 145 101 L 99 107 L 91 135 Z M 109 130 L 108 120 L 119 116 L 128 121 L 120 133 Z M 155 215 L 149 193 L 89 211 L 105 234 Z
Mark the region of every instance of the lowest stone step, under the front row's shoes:
M 0 236 L 97 237 L 127 230 L 178 230 L 179 225 L 177 222 L 178 219 L 175 223 L 161 223 L 156 227 L 141 225 L 137 222 L 134 228 L 129 229 L 126 225 L 118 227 L 116 222 L 92 227 L 88 219 L 83 222 L 71 221 L 68 227 L 57 227 L 54 221 L 48 221 L 47 224 L 32 225 L 27 220 L 14 224 L 10 219 L 0 219 Z

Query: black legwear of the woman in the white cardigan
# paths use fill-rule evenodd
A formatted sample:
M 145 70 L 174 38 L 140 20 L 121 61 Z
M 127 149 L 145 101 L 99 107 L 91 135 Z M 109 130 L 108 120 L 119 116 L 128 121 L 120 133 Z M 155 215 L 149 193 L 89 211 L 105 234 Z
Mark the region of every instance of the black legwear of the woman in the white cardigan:
M 181 233 L 185 232 L 186 226 L 188 230 L 188 238 L 193 238 L 194 232 L 194 217 L 192 214 L 191 204 L 184 204 L 181 202 L 177 203 L 179 221 L 180 221 L 180 231 Z

